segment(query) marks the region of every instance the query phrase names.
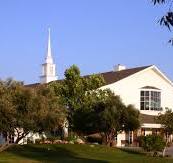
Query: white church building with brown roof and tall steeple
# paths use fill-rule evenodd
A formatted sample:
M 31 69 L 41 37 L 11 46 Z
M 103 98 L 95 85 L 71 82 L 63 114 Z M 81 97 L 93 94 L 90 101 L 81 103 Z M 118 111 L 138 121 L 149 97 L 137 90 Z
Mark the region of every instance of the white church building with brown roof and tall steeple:
M 117 146 L 125 146 L 126 143 L 136 145 L 138 136 L 161 132 L 162 126 L 155 122 L 155 117 L 164 113 L 165 108 L 173 108 L 173 83 L 163 72 L 155 65 L 135 68 L 117 65 L 113 71 L 100 74 L 105 80 L 105 85 L 100 89 L 109 88 L 115 95 L 119 95 L 126 105 L 132 104 L 140 111 L 140 129 L 118 134 L 115 138 Z M 42 64 L 40 83 L 55 80 L 56 65 L 51 53 L 49 29 L 47 55 L 45 63 Z

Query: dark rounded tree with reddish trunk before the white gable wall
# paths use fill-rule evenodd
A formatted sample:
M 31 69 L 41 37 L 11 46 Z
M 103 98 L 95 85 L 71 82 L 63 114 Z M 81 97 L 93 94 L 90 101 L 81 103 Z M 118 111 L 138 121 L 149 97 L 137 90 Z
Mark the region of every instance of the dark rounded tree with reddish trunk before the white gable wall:
M 115 136 L 123 130 L 132 131 L 140 126 L 139 112 L 125 106 L 119 96 L 110 90 L 99 90 L 90 94 L 92 101 L 77 110 L 73 116 L 74 129 L 78 132 L 100 133 L 105 144 L 110 146 Z

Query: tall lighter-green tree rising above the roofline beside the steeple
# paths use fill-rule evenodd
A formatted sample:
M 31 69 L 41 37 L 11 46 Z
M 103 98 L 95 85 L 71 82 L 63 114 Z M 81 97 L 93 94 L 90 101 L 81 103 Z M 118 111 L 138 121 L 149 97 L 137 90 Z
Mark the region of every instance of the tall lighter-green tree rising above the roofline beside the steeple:
M 104 79 L 100 75 L 81 77 L 80 70 L 76 65 L 72 65 L 65 71 L 65 79 L 50 83 L 49 87 L 61 98 L 68 111 L 68 121 L 72 125 L 74 112 L 85 105 L 87 93 L 96 90 L 104 84 Z

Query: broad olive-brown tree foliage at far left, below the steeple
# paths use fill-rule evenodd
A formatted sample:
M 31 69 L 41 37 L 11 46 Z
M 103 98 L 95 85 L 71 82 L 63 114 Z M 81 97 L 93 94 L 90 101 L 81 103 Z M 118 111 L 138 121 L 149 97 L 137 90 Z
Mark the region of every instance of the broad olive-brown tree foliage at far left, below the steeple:
M 62 125 L 65 113 L 58 101 L 46 86 L 32 89 L 11 79 L 0 81 L 0 131 L 7 138 L 15 136 L 17 144 L 31 131 L 49 131 Z

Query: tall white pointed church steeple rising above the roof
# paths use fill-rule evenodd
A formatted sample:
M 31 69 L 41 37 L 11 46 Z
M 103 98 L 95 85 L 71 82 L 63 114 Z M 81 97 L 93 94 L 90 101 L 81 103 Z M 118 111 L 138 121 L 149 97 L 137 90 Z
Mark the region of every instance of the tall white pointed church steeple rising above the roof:
M 53 63 L 52 52 L 51 52 L 51 39 L 50 39 L 50 28 L 48 35 L 48 46 L 45 63 L 42 64 L 42 76 L 40 77 L 41 83 L 49 83 L 57 80 L 56 76 L 56 65 Z

